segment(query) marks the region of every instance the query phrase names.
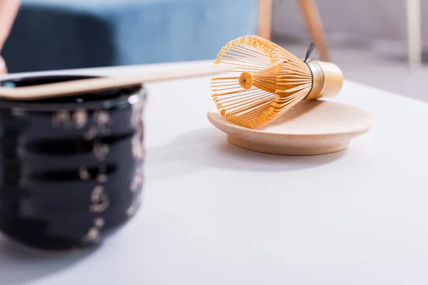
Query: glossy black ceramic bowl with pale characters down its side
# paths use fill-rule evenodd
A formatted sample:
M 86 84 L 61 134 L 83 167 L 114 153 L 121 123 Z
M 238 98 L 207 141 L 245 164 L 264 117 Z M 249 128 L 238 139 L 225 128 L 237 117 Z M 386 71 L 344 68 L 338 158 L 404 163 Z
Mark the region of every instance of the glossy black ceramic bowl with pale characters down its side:
M 32 86 L 86 76 L 0 81 Z M 99 244 L 136 213 L 143 186 L 143 86 L 0 100 L 0 230 L 36 249 Z

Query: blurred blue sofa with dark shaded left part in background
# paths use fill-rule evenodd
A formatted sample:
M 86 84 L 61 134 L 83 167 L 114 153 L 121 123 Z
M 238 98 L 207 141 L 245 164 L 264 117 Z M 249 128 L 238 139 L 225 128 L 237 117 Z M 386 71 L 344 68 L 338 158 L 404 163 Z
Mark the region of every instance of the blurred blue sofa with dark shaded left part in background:
M 10 72 L 215 58 L 258 31 L 258 0 L 21 0 Z

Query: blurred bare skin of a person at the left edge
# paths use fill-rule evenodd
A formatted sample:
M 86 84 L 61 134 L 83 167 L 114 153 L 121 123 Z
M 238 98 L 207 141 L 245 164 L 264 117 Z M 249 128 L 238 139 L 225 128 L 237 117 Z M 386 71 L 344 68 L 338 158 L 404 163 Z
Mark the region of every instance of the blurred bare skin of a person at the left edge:
M 19 10 L 20 0 L 0 0 L 0 52 L 14 25 Z M 0 56 L 0 74 L 7 72 L 6 63 Z

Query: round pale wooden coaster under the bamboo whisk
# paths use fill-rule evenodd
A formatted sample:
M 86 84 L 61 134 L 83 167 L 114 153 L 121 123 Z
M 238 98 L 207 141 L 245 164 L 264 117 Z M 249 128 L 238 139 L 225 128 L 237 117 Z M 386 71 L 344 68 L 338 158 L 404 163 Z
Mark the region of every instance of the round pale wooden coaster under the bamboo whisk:
M 225 120 L 217 109 L 208 120 L 234 145 L 277 155 L 322 155 L 344 150 L 372 128 L 372 115 L 351 105 L 325 100 L 302 101 L 262 128 L 244 128 Z

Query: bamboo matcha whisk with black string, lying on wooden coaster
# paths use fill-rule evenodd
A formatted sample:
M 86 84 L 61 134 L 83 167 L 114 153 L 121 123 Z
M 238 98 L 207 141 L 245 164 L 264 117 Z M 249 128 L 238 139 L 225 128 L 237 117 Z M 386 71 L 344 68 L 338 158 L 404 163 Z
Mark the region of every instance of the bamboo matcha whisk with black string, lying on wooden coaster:
M 304 60 L 260 36 L 230 41 L 216 64 L 235 68 L 232 75 L 213 78 L 213 100 L 221 115 L 233 123 L 256 128 L 275 120 L 301 100 L 335 96 L 342 72 L 333 63 Z

